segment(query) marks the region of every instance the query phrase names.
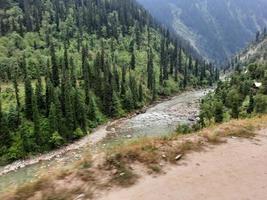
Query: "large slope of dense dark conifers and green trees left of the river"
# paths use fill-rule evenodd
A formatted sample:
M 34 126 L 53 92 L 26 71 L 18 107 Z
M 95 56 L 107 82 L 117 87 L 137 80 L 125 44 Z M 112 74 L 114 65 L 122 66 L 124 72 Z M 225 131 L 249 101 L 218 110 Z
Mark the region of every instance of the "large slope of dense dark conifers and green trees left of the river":
M 6 0 L 0 8 L 0 164 L 219 79 L 132 0 Z

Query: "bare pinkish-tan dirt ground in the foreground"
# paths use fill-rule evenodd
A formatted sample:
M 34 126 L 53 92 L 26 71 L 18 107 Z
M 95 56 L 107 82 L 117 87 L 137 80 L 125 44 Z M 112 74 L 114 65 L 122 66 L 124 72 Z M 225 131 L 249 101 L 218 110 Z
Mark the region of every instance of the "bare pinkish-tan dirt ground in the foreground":
M 267 200 L 267 129 L 187 155 L 158 177 L 145 176 L 99 200 Z

